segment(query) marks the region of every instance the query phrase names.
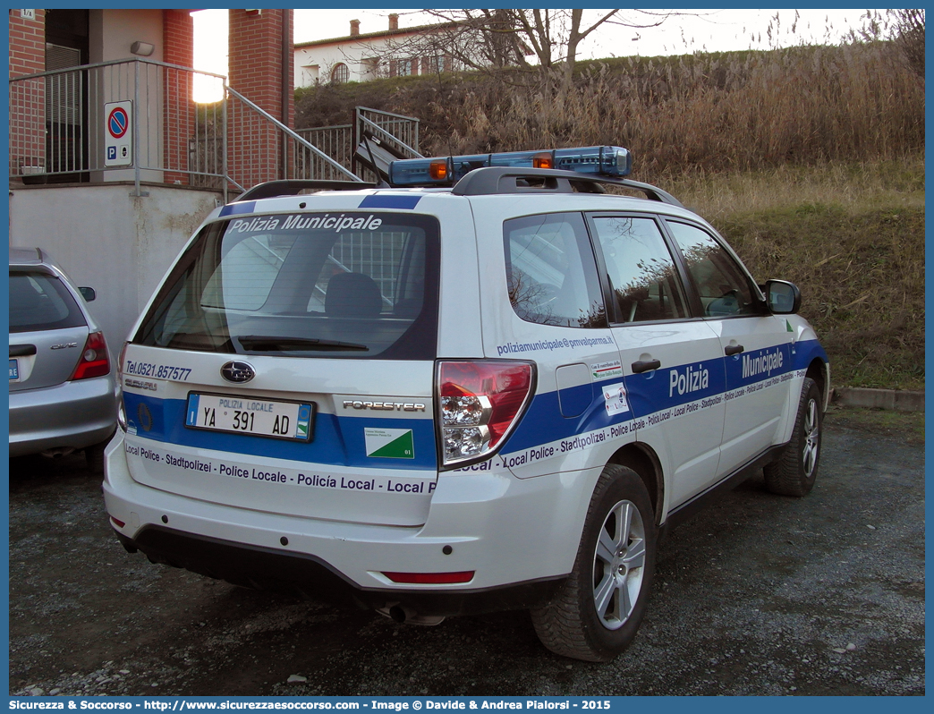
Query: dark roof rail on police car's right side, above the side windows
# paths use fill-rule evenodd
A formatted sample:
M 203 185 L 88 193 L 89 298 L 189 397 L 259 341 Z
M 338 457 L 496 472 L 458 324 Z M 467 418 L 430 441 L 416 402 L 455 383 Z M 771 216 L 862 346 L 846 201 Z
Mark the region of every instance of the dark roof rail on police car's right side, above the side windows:
M 657 186 L 630 179 L 582 175 L 573 171 L 546 168 L 511 168 L 486 166 L 475 168 L 460 179 L 451 193 L 461 196 L 496 193 L 605 193 L 601 184 L 641 191 L 650 201 L 684 207 L 671 193 Z

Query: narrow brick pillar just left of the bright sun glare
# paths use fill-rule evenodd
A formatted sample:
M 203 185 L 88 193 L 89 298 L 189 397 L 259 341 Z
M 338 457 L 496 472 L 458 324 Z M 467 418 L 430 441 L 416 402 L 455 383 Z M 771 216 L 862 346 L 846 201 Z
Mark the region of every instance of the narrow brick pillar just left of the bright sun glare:
M 189 10 L 163 10 L 163 60 L 168 64 L 191 67 L 194 64 L 194 21 Z M 191 73 L 166 70 L 163 85 L 166 128 L 163 141 L 163 165 L 185 170 L 189 165 L 188 142 L 194 134 L 194 87 Z M 166 171 L 165 183 L 188 185 L 185 173 Z

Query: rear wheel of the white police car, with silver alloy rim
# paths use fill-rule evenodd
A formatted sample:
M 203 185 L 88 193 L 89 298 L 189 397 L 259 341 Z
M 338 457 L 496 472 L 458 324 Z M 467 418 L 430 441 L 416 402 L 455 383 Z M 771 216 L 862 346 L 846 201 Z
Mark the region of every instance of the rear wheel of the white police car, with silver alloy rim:
M 542 644 L 587 662 L 609 662 L 626 650 L 652 588 L 656 538 L 642 478 L 607 464 L 590 498 L 571 575 L 547 606 L 531 610 Z

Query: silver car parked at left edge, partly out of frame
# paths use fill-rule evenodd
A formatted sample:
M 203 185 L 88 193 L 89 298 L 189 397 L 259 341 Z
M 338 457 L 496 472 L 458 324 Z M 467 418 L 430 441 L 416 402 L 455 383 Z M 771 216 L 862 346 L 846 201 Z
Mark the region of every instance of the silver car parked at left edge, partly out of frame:
M 50 255 L 9 249 L 9 455 L 83 449 L 104 470 L 119 391 L 104 333 Z

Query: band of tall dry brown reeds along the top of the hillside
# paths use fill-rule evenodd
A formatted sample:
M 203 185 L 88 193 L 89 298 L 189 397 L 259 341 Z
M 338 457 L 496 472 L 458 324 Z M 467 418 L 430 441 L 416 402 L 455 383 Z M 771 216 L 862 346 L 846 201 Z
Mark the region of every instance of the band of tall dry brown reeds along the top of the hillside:
M 925 90 L 892 42 L 447 74 L 302 91 L 297 125 L 355 104 L 418 117 L 426 155 L 611 144 L 634 178 L 893 159 L 924 149 Z M 342 119 L 343 117 L 343 119 Z

